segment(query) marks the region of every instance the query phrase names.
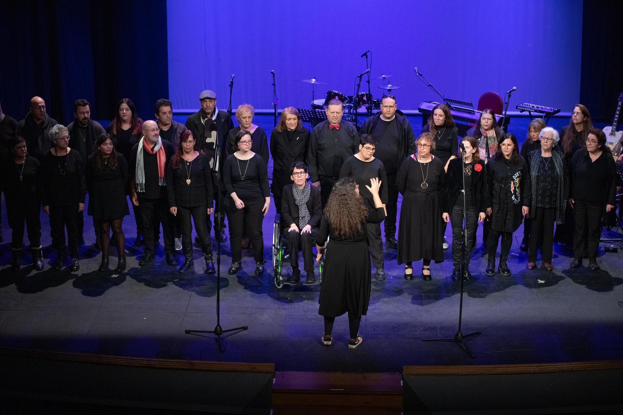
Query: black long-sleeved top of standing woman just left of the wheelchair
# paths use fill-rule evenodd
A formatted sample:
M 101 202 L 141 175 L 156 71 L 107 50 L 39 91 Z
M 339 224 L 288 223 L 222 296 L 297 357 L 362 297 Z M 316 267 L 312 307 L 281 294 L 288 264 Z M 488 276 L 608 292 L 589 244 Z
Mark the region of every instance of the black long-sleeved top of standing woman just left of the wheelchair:
M 270 196 L 269 172 L 264 159 L 257 154 L 249 160 L 239 160 L 235 154 L 227 156 L 223 164 L 223 181 L 227 197 L 235 193 L 244 201 Z

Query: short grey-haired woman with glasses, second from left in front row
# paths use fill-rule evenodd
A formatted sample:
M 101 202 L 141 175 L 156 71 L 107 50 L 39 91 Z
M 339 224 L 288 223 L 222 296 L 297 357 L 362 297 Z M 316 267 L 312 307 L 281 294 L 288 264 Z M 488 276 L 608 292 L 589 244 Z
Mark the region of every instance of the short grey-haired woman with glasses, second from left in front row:
M 72 264 L 69 269 L 80 269 L 78 263 L 78 224 L 76 212 L 84 209 L 87 195 L 82 159 L 69 148 L 67 127 L 57 124 L 50 129 L 54 147 L 43 156 L 40 169 L 39 196 L 43 211 L 50 215 L 52 246 L 57 252 L 52 269 L 60 270 L 65 263 L 65 227 Z

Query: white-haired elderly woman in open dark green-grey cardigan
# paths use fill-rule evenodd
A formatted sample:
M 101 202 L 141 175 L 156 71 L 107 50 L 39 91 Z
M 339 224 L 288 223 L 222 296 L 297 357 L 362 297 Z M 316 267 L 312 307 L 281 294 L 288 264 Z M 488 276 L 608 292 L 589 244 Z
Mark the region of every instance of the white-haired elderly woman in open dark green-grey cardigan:
M 569 193 L 569 174 L 563 153 L 554 148 L 560 136 L 558 131 L 545 127 L 539 133 L 541 148 L 528 153 L 531 186 L 530 211 L 532 219 L 530 248 L 528 249 L 528 269 L 536 268 L 536 249 L 541 246 L 542 267 L 553 269 L 551 256 L 554 243 L 554 222 L 564 223 L 564 209 Z

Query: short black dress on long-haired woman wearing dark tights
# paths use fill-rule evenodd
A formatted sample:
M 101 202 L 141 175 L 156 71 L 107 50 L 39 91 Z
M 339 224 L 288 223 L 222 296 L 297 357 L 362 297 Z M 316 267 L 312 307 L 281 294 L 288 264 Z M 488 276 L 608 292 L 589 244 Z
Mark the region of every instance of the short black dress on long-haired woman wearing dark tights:
M 115 169 L 111 169 L 108 163 L 105 163 L 101 169 L 97 169 L 95 168 L 97 156 L 90 155 L 87 161 L 87 213 L 103 221 L 120 219 L 129 215 L 128 200 L 125 197 L 128 182 L 128 163 L 125 157 L 117 153 Z

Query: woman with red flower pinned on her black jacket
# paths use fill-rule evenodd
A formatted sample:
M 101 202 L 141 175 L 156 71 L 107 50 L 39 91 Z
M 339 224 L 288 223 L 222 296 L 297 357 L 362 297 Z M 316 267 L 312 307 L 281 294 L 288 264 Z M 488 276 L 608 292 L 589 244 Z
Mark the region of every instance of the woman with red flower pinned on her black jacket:
M 470 255 L 473 248 L 473 235 L 478 222 L 485 220 L 487 199 L 487 170 L 485 163 L 480 160 L 478 146 L 473 137 L 465 136 L 461 140 L 465 147 L 464 158 L 450 160 L 444 184 L 444 221 L 452 224 L 452 280 L 458 281 L 461 277 L 460 264 L 463 261 L 463 279 L 472 279 L 469 272 Z M 463 181 L 465 178 L 465 186 Z M 464 199 L 465 195 L 465 199 Z M 465 209 L 465 229 L 467 230 L 467 244 L 461 258 L 463 244 L 463 210 Z

